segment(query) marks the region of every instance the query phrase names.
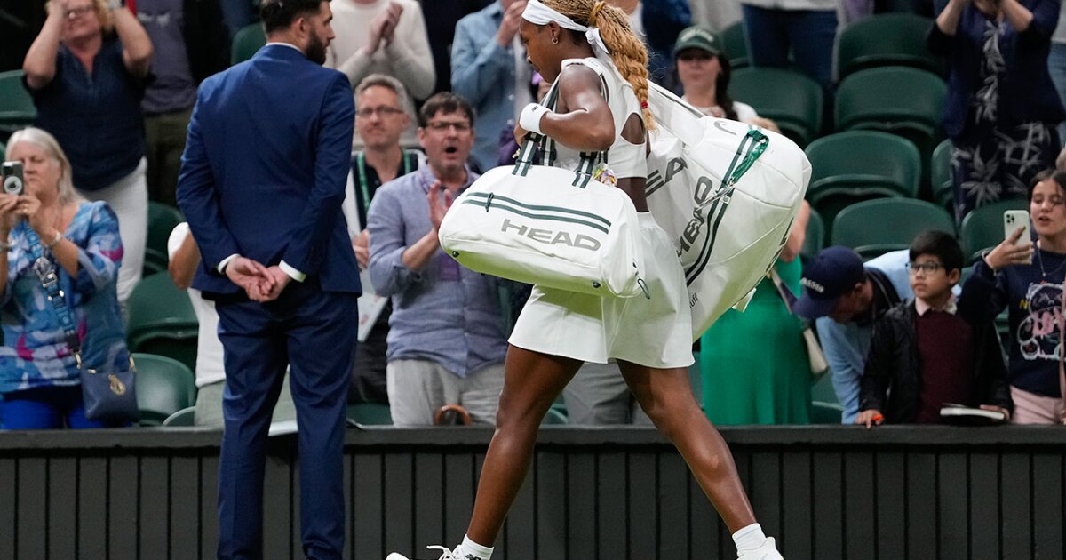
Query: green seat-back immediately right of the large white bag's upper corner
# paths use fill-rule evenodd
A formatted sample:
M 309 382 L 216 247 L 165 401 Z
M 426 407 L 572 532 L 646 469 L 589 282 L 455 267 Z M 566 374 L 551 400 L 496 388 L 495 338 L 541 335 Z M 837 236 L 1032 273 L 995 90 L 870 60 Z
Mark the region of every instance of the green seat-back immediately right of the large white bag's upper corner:
M 828 239 L 833 239 L 837 213 L 849 205 L 918 194 L 921 160 L 915 145 L 904 138 L 853 130 L 822 137 L 805 151 L 811 164 L 807 201 L 822 214 Z

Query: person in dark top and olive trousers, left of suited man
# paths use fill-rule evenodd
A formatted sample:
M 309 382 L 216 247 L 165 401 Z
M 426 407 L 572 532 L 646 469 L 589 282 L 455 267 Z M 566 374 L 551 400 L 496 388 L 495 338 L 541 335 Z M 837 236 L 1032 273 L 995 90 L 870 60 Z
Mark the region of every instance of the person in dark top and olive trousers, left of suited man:
M 196 86 L 229 66 L 229 37 L 217 0 L 138 0 L 151 39 L 152 80 L 144 92 L 148 196 L 177 206 L 174 191 Z

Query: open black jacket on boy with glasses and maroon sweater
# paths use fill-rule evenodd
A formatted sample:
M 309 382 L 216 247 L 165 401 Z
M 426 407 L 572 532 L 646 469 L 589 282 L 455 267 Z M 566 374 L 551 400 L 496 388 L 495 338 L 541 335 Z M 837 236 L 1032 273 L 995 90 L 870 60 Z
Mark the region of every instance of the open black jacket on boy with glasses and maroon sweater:
M 974 397 L 981 404 L 1013 411 L 996 325 L 971 320 L 962 309 L 958 313 L 973 327 Z M 859 410 L 881 411 L 887 423 L 912 423 L 918 417 L 920 375 L 918 310 L 911 299 L 889 309 L 874 324 L 860 381 Z

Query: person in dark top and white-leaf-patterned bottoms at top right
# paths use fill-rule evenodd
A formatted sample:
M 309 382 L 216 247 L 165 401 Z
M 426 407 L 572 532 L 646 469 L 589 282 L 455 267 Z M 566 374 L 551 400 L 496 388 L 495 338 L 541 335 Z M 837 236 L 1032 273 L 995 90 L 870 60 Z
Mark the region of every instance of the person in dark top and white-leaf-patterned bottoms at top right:
M 1020 198 L 1054 163 L 1066 112 L 1048 73 L 1055 0 L 950 0 L 928 34 L 948 59 L 943 126 L 954 146 L 955 219 Z

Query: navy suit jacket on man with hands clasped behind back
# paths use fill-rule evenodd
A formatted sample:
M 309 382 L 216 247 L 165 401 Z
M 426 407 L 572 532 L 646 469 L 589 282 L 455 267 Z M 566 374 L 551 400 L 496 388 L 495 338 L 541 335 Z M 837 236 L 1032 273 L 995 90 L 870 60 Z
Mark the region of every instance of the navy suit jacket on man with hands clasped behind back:
M 203 256 L 193 287 L 237 293 L 216 267 L 238 254 L 361 291 L 340 211 L 354 123 L 348 78 L 286 45 L 200 84 L 177 189 Z

